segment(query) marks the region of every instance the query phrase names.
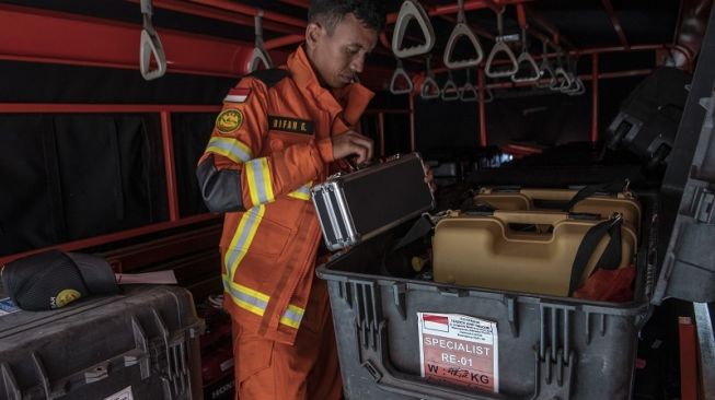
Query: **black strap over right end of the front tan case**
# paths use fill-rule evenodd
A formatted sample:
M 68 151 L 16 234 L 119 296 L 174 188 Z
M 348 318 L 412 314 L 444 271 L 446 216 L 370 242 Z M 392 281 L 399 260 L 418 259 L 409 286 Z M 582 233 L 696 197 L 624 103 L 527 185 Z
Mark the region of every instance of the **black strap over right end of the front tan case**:
M 622 222 L 622 215 L 615 213 L 610 220 L 598 223 L 586 232 L 586 235 L 584 235 L 584 239 L 576 251 L 574 263 L 572 264 L 570 282 L 568 284 L 569 297 L 574 294 L 574 291 L 579 287 L 580 279 L 588 261 L 591 259 L 591 256 L 593 256 L 598 244 L 601 243 L 601 239 L 607 234 L 610 236 L 610 239 L 603 254 L 601 254 L 601 257 L 596 263 L 596 270 L 614 270 L 619 268 L 621 264 L 621 258 L 623 257 L 621 249 Z

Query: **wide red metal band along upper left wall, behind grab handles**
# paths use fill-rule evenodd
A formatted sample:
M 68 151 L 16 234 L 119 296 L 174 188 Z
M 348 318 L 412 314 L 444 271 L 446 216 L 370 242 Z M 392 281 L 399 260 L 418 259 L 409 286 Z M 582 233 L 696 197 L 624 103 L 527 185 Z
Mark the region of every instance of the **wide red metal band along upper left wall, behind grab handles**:
M 140 25 L 0 4 L 0 59 L 138 70 L 140 33 Z M 158 33 L 170 72 L 238 78 L 253 49 L 238 40 L 161 27 Z M 287 54 L 272 56 L 284 62 Z

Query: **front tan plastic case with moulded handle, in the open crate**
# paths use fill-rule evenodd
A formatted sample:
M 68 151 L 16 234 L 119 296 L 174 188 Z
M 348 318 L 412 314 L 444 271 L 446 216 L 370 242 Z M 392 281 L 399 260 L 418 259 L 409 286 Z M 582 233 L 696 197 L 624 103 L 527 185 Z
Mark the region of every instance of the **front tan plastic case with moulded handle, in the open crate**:
M 584 236 L 603 220 L 579 220 L 565 212 L 495 211 L 493 215 L 457 212 L 440 220 L 433 238 L 435 282 L 499 291 L 567 296 L 572 264 Z M 551 232 L 519 232 L 510 224 L 551 225 Z M 622 225 L 620 268 L 633 262 L 637 237 Z M 608 245 L 601 239 L 581 283 Z

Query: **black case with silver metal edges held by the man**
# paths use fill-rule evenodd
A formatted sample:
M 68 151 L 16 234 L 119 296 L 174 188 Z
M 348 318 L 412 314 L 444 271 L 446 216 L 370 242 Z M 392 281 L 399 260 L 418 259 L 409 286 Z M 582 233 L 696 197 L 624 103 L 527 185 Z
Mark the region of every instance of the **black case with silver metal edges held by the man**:
M 353 246 L 435 207 L 417 153 L 338 173 L 311 193 L 330 250 Z

